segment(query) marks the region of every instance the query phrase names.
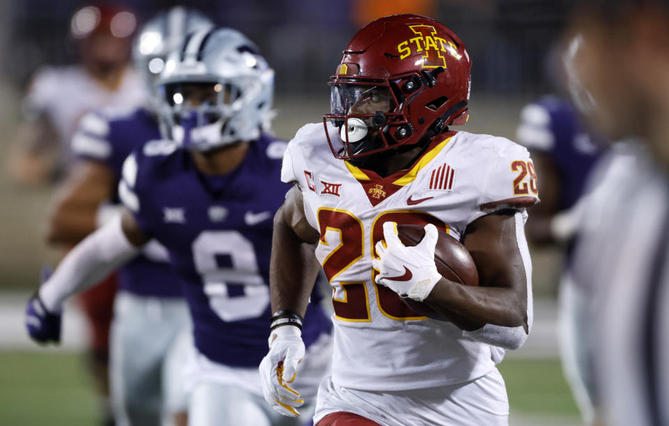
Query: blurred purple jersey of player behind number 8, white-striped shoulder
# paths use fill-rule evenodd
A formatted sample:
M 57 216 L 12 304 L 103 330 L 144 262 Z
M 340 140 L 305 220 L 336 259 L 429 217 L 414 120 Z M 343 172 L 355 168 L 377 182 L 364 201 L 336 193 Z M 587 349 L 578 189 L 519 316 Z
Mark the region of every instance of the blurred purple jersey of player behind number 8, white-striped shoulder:
M 82 118 L 72 138 L 77 157 L 100 161 L 121 179 L 125 157 L 144 143 L 160 139 L 153 113 L 139 108 L 122 111 L 107 109 L 89 113 Z M 116 197 L 115 197 L 116 198 Z M 118 203 L 118 200 L 115 199 Z M 149 259 L 141 254 L 118 270 L 118 285 L 132 294 L 147 297 L 180 297 L 178 278 L 167 259 Z

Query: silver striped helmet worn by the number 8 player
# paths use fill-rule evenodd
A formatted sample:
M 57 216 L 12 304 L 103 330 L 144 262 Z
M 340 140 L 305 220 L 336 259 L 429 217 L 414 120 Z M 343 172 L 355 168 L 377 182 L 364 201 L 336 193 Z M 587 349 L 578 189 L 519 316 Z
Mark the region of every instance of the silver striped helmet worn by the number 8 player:
M 254 141 L 269 128 L 274 71 L 254 42 L 233 29 L 187 36 L 157 86 L 163 136 L 184 148 Z

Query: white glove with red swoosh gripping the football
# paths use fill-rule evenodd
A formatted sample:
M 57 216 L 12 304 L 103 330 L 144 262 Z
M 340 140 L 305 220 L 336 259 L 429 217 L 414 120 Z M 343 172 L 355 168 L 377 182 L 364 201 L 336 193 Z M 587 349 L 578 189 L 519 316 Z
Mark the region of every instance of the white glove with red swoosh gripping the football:
M 434 263 L 436 226 L 425 226 L 425 236 L 417 246 L 407 247 L 397 236 L 397 223 L 383 223 L 385 241 L 376 243 L 378 258 L 372 266 L 379 271 L 376 283 L 389 287 L 400 297 L 423 301 L 442 278 Z

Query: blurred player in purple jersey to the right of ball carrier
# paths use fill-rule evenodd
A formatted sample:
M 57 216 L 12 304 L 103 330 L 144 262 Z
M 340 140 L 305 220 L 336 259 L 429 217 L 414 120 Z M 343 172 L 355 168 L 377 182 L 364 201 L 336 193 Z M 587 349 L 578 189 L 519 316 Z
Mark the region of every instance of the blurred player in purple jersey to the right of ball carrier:
M 560 349 L 562 368 L 587 423 L 592 421 L 592 365 L 583 336 L 590 296 L 574 286 L 566 273 L 572 262 L 576 229 L 585 204 L 588 175 L 603 150 L 603 143 L 587 132 L 583 118 L 571 102 L 551 95 L 521 111 L 517 141 L 530 150 L 539 181 L 541 203 L 528 218 L 528 239 L 537 246 L 564 248 L 560 280 Z

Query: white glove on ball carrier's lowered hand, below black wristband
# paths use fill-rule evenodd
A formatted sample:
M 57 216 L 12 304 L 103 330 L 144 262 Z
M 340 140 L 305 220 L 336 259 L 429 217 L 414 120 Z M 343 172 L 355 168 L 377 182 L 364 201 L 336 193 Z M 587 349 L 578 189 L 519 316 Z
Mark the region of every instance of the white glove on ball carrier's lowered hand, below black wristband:
M 305 356 L 302 331 L 293 325 L 277 327 L 270 334 L 269 343 L 270 352 L 259 367 L 263 396 L 273 409 L 284 416 L 299 417 L 295 407 L 305 402 L 289 384 L 297 377 L 298 364 Z

